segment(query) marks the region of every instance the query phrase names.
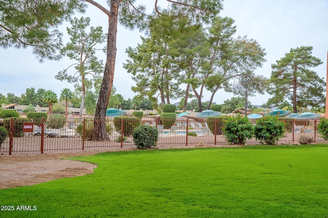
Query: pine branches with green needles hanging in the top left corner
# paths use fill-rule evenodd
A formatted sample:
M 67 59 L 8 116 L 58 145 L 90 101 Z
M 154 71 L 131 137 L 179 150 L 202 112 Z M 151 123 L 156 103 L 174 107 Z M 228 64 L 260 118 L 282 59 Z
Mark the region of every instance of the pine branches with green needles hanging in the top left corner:
M 80 0 L 0 0 L 0 47 L 32 47 L 40 60 L 59 59 L 58 25 L 84 7 Z

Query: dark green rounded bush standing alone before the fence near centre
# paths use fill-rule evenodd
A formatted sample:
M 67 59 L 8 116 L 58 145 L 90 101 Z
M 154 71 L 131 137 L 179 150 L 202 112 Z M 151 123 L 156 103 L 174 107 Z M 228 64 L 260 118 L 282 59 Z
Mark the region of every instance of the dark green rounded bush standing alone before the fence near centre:
M 138 148 L 156 146 L 158 130 L 154 126 L 140 125 L 133 130 L 133 142 Z

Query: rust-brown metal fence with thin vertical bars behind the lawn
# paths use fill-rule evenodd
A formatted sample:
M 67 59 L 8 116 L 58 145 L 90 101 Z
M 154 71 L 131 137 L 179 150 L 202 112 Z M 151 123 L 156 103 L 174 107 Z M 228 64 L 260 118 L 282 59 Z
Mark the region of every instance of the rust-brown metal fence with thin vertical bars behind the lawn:
M 30 121 L 10 119 L 0 125 L 8 129 L 9 136 L 0 147 L 2 155 L 31 155 L 50 154 L 54 152 L 80 150 L 121 150 L 136 148 L 131 136 L 137 125 L 153 125 L 158 129 L 159 139 L 157 147 L 184 146 L 228 146 L 223 135 L 216 134 L 217 121 L 195 121 L 186 119 L 173 121 L 170 128 L 166 128 L 165 121 L 160 119 L 136 122 L 133 118 L 115 121 L 114 119 L 98 120 L 106 126 L 109 140 L 91 140 L 94 119 L 71 119 L 68 121 L 45 122 L 45 120 Z M 172 122 L 172 120 L 168 120 Z M 212 130 L 209 128 L 212 127 Z M 298 142 L 302 134 L 311 135 L 316 142 L 324 141 L 317 132 L 317 120 L 291 121 L 284 137 L 279 144 L 293 144 Z M 213 129 L 214 128 L 214 129 Z M 194 133 L 197 136 L 190 136 Z M 255 138 L 247 140 L 247 144 L 260 144 Z

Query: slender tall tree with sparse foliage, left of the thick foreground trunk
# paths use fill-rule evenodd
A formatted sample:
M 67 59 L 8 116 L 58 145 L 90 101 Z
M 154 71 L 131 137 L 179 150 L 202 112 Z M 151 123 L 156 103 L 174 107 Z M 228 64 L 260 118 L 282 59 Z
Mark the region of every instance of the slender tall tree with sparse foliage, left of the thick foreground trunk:
M 60 71 L 55 78 L 60 81 L 67 80 L 73 82 L 81 90 L 81 105 L 79 118 L 82 117 L 83 108 L 85 104 L 86 89 L 90 88 L 93 77 L 100 77 L 103 72 L 103 61 L 98 60 L 96 56 L 96 46 L 105 42 L 106 36 L 103 34 L 101 27 L 90 27 L 90 32 L 86 32 L 86 28 L 90 25 L 89 17 L 76 17 L 71 20 L 71 28 L 67 28 L 70 37 L 70 42 L 60 50 L 60 53 L 68 56 L 70 59 L 76 61 L 64 71 Z M 67 73 L 72 66 L 75 68 L 73 75 Z M 88 79 L 88 75 L 92 77 Z

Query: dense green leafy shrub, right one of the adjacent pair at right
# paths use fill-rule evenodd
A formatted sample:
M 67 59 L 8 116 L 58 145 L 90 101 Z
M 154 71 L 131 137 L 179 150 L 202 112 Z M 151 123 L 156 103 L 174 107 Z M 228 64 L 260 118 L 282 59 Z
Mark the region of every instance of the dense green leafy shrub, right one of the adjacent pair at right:
M 254 136 L 260 143 L 274 145 L 285 133 L 285 124 L 276 116 L 262 117 L 256 120 Z

